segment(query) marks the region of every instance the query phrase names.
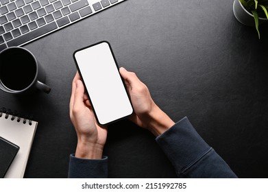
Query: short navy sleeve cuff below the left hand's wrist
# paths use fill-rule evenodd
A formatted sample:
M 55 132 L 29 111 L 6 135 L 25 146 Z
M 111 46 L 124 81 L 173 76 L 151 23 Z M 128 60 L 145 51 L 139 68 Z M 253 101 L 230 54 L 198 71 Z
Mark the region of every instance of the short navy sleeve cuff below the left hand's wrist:
M 107 178 L 108 157 L 102 159 L 77 158 L 70 155 L 68 178 Z

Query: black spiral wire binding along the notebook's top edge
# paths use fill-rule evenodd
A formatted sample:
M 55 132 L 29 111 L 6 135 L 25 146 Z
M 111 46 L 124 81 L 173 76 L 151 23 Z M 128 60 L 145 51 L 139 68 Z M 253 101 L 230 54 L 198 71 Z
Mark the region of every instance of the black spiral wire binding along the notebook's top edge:
M 29 123 L 29 125 L 32 125 L 32 115 L 20 115 L 16 110 L 14 112 L 10 109 L 0 108 L 0 118 L 4 117 L 5 119 L 8 119 L 8 117 L 11 117 L 10 120 L 14 121 L 16 119 L 17 122 L 23 122 L 23 124 Z

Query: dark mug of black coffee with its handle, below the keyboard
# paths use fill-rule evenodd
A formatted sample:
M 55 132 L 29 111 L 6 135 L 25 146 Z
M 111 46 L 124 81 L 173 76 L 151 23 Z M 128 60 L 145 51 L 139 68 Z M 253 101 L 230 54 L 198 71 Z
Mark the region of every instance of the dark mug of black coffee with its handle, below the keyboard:
M 7 93 L 23 94 L 41 90 L 49 93 L 45 71 L 34 55 L 23 47 L 0 52 L 0 88 Z

